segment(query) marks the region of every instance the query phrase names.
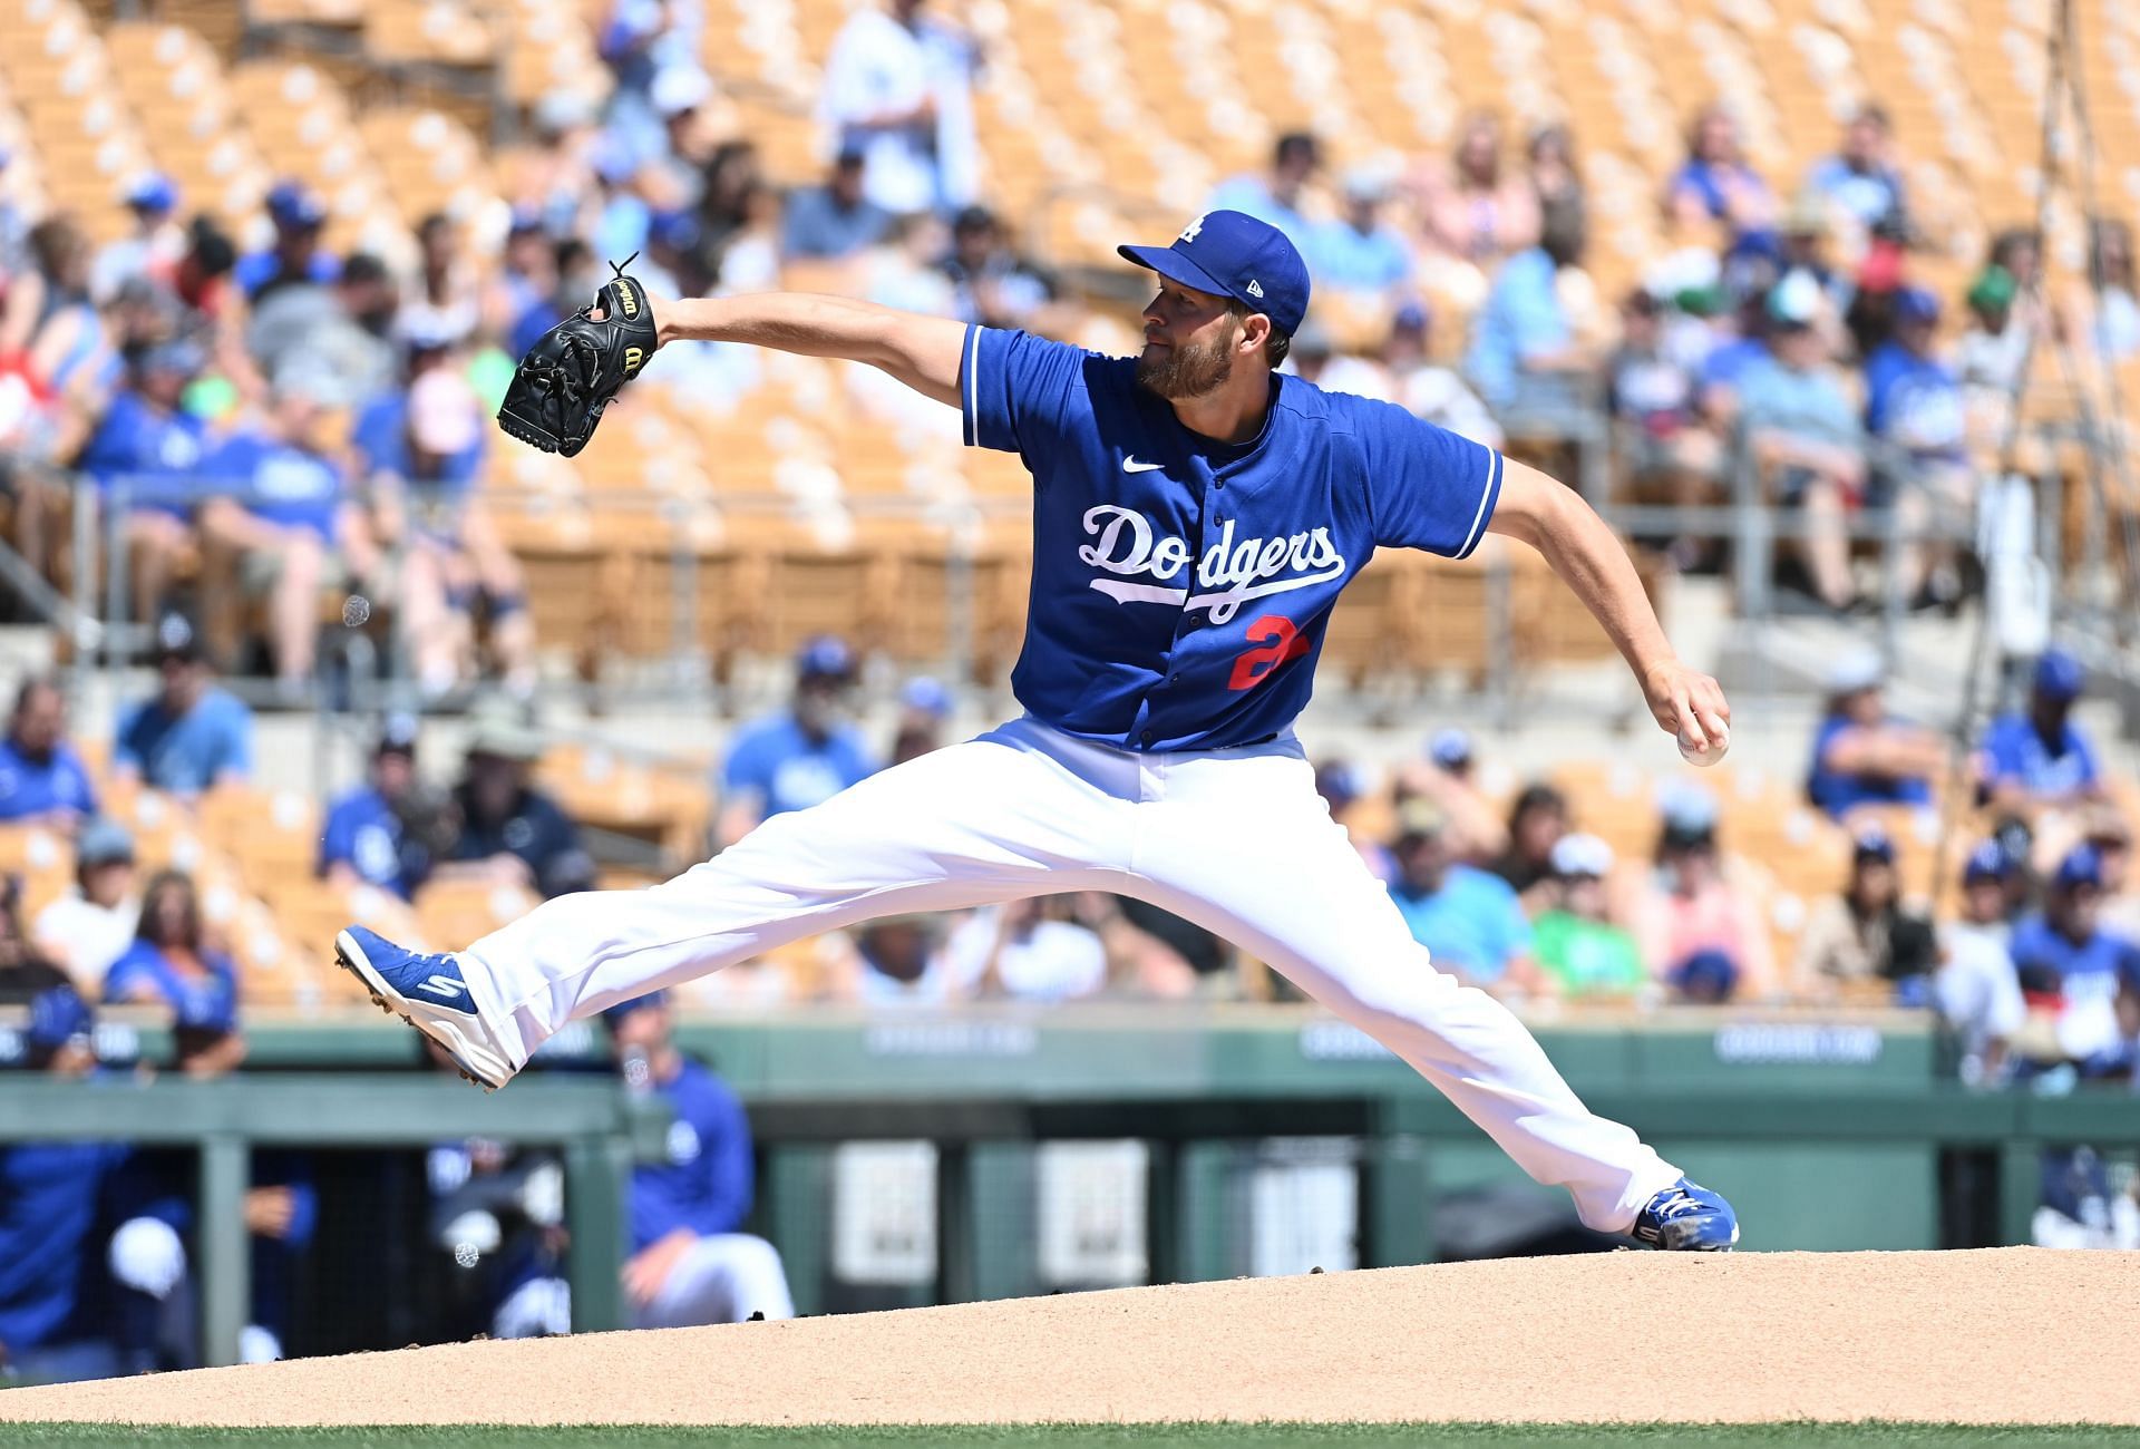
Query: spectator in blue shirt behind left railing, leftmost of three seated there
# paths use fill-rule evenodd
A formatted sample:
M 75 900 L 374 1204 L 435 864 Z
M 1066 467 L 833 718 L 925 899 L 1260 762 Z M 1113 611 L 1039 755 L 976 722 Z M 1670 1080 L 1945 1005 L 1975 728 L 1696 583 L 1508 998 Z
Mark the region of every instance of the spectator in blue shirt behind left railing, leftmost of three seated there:
M 111 398 L 77 460 L 107 499 L 122 486 L 154 492 L 133 501 L 124 522 L 128 586 L 141 621 L 163 612 L 171 569 L 193 546 L 188 494 L 210 434 L 208 424 L 184 409 L 184 394 L 205 362 L 188 340 L 139 353 L 133 383 Z

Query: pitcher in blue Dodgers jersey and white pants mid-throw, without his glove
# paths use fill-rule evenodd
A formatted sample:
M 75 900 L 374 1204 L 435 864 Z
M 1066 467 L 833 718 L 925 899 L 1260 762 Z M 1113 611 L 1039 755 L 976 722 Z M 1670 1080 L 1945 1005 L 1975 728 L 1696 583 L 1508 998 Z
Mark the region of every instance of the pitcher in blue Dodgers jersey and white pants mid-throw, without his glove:
M 1524 1025 L 1438 972 L 1331 822 L 1293 732 L 1333 604 L 1376 548 L 1537 546 L 1691 758 L 1729 734 L 1611 531 L 1569 488 L 1400 407 L 1278 372 L 1308 270 L 1275 227 L 1190 220 L 1124 246 L 1153 272 L 1138 357 L 839 298 L 655 302 L 659 340 L 847 357 L 957 407 L 1034 477 L 1023 717 L 766 820 L 651 890 L 548 901 L 469 950 L 362 927 L 342 963 L 503 1085 L 567 1021 L 873 916 L 1109 890 L 1235 940 L 1367 1032 L 1584 1222 L 1661 1248 L 1738 1241 L 1731 1207 L 1592 1115 Z M 1425 1205 L 1421 1205 L 1425 1209 Z

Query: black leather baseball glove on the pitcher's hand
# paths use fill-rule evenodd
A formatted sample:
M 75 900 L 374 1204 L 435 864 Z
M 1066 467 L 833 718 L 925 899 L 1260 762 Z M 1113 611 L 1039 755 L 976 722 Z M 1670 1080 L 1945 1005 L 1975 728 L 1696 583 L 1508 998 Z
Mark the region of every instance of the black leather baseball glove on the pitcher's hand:
M 625 259 L 631 265 L 631 259 Z M 537 338 L 514 370 L 499 426 L 546 454 L 571 458 L 595 437 L 601 409 L 655 355 L 655 310 L 614 261 L 595 300 Z M 601 308 L 601 321 L 593 310 Z

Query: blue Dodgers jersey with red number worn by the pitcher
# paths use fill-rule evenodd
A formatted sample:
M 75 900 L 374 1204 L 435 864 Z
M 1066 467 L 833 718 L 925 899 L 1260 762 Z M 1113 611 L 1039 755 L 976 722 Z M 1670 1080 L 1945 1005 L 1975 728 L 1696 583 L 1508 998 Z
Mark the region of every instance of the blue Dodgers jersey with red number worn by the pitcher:
M 1331 606 L 1376 548 L 1464 559 L 1502 460 L 1402 407 L 1278 375 L 1252 443 L 1203 439 L 1132 357 L 967 327 L 965 441 L 1034 475 L 1034 586 L 1010 687 L 1068 734 L 1228 749 L 1282 734 Z

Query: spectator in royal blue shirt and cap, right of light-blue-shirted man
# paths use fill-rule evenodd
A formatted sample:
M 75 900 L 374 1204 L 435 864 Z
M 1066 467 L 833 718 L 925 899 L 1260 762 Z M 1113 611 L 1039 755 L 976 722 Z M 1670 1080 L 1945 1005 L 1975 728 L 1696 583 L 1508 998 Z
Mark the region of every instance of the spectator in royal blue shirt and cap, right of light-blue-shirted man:
M 1975 512 L 1969 469 L 1969 409 L 1960 381 L 1941 362 L 1939 298 L 1924 287 L 1902 287 L 1892 302 L 1894 336 L 1866 360 L 1866 428 L 1894 445 L 1900 477 L 1877 475 L 1877 497 L 1896 509 L 1902 529 L 1922 529 L 1935 507 L 1950 518 Z M 1952 544 L 1896 550 L 1902 591 L 1922 604 L 1952 606 L 1962 597 L 1962 576 Z

